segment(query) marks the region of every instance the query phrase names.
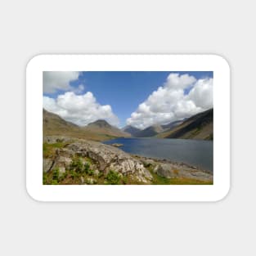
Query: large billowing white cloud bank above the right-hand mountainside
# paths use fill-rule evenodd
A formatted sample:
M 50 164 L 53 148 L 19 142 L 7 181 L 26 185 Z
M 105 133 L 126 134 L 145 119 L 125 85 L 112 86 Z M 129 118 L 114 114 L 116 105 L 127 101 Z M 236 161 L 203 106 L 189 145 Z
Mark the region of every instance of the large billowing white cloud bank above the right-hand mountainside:
M 185 92 L 188 93 L 185 93 Z M 168 75 L 163 86 L 142 102 L 127 124 L 146 128 L 168 124 L 213 107 L 213 79 L 195 79 L 189 74 Z

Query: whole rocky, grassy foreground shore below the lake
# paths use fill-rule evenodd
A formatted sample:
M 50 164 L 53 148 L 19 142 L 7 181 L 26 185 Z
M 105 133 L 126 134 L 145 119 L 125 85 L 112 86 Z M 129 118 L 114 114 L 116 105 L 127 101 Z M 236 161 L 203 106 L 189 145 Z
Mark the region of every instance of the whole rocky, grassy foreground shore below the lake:
M 116 175 L 116 184 L 161 184 L 163 178 L 166 184 L 213 183 L 213 174 L 200 168 L 130 155 L 101 142 L 56 136 L 44 137 L 43 142 L 44 184 L 52 184 L 53 177 L 57 184 L 113 184 L 111 175 Z M 87 171 L 84 166 L 89 166 Z

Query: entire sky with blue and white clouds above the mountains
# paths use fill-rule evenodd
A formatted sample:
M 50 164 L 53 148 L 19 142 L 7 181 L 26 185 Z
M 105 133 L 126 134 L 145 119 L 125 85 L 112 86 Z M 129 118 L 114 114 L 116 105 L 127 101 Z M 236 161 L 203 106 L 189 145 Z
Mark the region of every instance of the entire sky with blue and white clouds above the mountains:
M 44 71 L 43 107 L 74 124 L 168 124 L 213 107 L 212 71 Z

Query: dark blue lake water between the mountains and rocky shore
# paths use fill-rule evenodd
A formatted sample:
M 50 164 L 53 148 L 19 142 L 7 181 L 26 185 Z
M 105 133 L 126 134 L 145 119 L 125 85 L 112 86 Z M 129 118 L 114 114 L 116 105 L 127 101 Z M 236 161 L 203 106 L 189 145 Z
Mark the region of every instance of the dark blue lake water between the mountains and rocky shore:
M 134 154 L 152 158 L 169 159 L 191 164 L 213 172 L 213 141 L 159 139 L 159 138 L 117 138 L 105 144 L 120 143 L 119 148 Z

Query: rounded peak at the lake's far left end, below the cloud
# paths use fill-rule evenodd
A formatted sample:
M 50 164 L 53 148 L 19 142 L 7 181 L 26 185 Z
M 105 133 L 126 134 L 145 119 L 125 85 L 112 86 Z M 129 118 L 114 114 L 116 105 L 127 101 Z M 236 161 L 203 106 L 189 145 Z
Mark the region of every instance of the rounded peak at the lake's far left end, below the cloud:
M 83 128 L 84 131 L 106 134 L 112 137 L 131 137 L 131 134 L 124 132 L 115 126 L 110 125 L 105 120 L 97 120 Z

